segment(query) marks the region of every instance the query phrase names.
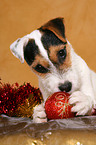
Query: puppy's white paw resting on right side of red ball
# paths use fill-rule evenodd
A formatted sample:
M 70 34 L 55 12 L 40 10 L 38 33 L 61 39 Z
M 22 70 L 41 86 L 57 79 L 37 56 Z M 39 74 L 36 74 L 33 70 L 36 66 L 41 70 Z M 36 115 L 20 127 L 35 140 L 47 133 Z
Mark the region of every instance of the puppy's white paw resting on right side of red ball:
M 73 105 L 71 111 L 76 112 L 76 115 L 89 115 L 92 112 L 93 103 L 91 97 L 80 91 L 72 93 L 69 104 Z

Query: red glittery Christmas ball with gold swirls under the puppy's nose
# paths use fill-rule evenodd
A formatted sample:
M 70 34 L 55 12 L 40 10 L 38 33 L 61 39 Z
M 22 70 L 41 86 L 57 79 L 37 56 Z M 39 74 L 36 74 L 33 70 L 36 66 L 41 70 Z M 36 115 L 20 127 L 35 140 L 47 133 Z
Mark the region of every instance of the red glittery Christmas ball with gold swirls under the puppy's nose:
M 75 116 L 71 112 L 72 106 L 68 102 L 69 96 L 66 92 L 56 92 L 47 99 L 45 111 L 48 119 L 64 119 Z

